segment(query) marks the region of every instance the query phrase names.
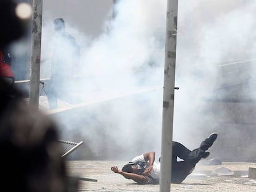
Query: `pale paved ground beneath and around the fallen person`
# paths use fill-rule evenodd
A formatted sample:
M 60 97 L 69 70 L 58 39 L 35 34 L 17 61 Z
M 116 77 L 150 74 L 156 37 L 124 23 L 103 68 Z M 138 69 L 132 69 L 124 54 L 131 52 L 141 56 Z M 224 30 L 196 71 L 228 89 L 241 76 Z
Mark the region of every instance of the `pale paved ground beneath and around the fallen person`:
M 111 166 L 122 167 L 126 163 L 124 161 L 67 161 L 70 175 L 98 180 L 98 182 L 80 181 L 79 191 L 159 191 L 159 185 L 138 185 L 132 180 L 111 172 Z M 234 175 L 214 175 L 213 170 L 221 167 L 233 171 Z M 249 167 L 256 167 L 256 163 L 198 164 L 184 182 L 171 184 L 171 191 L 256 191 L 256 180 L 247 177 Z

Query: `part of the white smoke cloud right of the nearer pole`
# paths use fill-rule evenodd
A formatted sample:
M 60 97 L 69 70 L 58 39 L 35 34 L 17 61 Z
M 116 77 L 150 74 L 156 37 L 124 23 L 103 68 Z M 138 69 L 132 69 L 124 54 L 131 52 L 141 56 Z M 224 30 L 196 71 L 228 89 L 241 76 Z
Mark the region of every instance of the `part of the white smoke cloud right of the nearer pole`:
M 233 104 L 232 109 L 219 108 L 215 112 L 222 115 L 216 115 L 211 110 L 214 106 L 216 110 L 218 104 L 208 102 L 208 99 L 255 98 L 254 93 L 244 93 L 242 85 L 243 81 L 249 79 L 247 83 L 254 86 L 251 78 L 254 67 L 248 70 L 249 64 L 246 62 L 220 67 L 255 58 L 254 10 L 254 1 L 198 0 L 192 4 L 179 1 L 176 86 L 180 90 L 176 91 L 174 138 L 192 148 L 197 147 L 207 132 L 220 131 L 222 134 L 227 131 L 229 135 L 223 135 L 223 138 L 236 133 L 231 131 L 234 129 L 230 127 L 232 125 L 220 122 L 225 122 L 225 119 L 228 122 L 232 118 L 233 122 L 237 121 L 232 114 L 242 109 Z M 224 88 L 234 85 L 234 91 Z M 191 141 L 191 138 L 195 141 Z M 223 151 L 231 151 L 233 144 L 225 142 L 229 149 Z

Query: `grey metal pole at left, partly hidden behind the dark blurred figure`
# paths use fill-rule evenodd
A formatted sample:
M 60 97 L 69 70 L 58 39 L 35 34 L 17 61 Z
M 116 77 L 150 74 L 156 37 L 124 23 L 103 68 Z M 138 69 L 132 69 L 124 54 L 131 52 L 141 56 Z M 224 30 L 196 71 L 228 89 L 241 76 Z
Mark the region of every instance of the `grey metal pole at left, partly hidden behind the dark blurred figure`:
M 43 0 L 33 0 L 29 104 L 38 107 Z

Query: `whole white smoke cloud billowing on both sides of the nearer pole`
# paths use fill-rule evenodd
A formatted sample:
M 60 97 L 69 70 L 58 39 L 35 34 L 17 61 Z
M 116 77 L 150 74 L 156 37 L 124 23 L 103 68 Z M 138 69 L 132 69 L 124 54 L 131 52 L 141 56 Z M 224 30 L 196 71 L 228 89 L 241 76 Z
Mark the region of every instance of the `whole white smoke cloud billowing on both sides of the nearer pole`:
M 82 114 L 69 114 L 69 120 L 61 117 L 61 122 L 77 131 L 95 156 L 105 152 L 109 158 L 124 159 L 152 150 L 159 155 L 166 1 L 121 0 L 116 10 L 116 18 L 106 20 L 104 33 L 94 40 L 67 23 L 67 31 L 82 48 L 76 75 L 86 78 L 77 82 L 80 99 L 158 88 L 88 106 Z M 254 10 L 254 1 L 179 1 L 176 86 L 180 89 L 175 92 L 173 138 L 190 149 L 219 126 L 207 102 L 218 98 L 215 89 L 226 82 L 218 65 L 254 56 Z M 44 28 L 42 54 L 48 55 L 53 25 L 45 21 Z M 70 125 L 73 115 L 77 122 Z M 119 156 L 114 146 L 120 149 Z

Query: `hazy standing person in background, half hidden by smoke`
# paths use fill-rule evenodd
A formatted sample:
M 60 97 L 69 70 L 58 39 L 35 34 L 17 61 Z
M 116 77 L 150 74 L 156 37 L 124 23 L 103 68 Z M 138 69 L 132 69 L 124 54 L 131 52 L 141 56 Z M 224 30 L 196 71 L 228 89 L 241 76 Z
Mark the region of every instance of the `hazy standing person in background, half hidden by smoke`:
M 64 19 L 54 20 L 54 44 L 51 57 L 51 77 L 47 88 L 49 108 L 58 107 L 58 99 L 72 102 L 70 78 L 79 62 L 80 48 L 73 36 L 66 31 Z

